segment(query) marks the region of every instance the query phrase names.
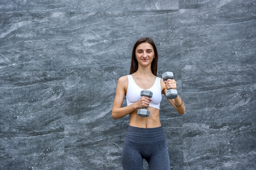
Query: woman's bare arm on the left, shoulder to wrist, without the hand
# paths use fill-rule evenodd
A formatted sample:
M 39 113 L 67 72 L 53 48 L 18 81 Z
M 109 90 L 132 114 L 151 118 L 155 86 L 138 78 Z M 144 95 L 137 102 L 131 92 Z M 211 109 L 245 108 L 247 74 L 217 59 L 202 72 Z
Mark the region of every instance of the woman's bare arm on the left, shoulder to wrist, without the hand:
M 128 115 L 129 113 L 131 113 L 132 111 L 135 111 L 135 109 L 137 109 L 135 103 L 126 107 L 121 107 L 123 104 L 127 86 L 128 86 L 127 76 L 120 77 L 117 82 L 117 89 L 116 89 L 115 99 L 113 102 L 113 108 L 112 108 L 113 119 L 122 118 Z

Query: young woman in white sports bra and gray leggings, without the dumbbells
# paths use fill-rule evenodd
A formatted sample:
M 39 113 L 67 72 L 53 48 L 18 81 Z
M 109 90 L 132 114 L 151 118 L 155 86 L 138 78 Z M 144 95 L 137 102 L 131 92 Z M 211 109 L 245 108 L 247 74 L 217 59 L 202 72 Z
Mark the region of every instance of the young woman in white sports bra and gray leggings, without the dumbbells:
M 122 153 L 124 170 L 142 170 L 143 159 L 148 162 L 150 170 L 170 169 L 159 107 L 162 94 L 165 95 L 168 89 L 176 89 L 176 82 L 173 79 L 163 81 L 157 77 L 157 60 L 157 48 L 153 39 L 144 37 L 137 40 L 132 50 L 130 75 L 120 77 L 117 82 L 112 117 L 119 119 L 128 114 L 130 116 Z M 153 92 L 152 98 L 141 97 L 143 89 Z M 121 107 L 124 96 L 127 106 Z M 184 114 L 185 105 L 179 96 L 168 101 L 178 113 Z M 137 110 L 144 107 L 147 107 L 150 115 L 138 116 Z

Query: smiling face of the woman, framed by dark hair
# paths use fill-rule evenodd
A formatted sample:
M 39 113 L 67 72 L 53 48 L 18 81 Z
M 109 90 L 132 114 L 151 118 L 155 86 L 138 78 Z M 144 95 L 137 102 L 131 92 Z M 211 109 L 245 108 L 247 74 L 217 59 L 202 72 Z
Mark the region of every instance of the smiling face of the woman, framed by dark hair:
M 135 56 L 140 65 L 146 66 L 152 63 L 155 58 L 153 46 L 148 42 L 143 42 L 137 46 Z

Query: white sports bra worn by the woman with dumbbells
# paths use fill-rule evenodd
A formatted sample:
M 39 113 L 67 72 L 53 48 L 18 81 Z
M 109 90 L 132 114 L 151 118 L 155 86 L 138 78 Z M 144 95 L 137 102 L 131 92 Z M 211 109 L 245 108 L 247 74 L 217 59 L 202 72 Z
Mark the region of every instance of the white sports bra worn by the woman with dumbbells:
M 127 106 L 131 105 L 139 101 L 141 98 L 140 92 L 141 90 L 150 90 L 153 93 L 152 101 L 149 102 L 149 107 L 154 107 L 156 109 L 160 109 L 160 102 L 162 100 L 162 88 L 161 88 L 161 78 L 157 77 L 155 79 L 155 83 L 149 89 L 142 89 L 140 88 L 132 78 L 132 75 L 127 75 L 128 77 L 128 87 L 127 87 L 127 94 L 126 94 L 126 103 Z

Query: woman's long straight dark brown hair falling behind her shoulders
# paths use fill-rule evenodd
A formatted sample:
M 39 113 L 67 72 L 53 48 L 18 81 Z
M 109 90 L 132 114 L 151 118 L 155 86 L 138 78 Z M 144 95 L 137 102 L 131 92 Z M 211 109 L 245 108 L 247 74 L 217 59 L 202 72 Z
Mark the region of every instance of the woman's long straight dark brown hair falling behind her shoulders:
M 153 59 L 152 63 L 151 63 L 151 71 L 152 73 L 157 76 L 157 60 L 158 60 L 158 53 L 157 53 L 157 48 L 155 46 L 155 42 L 153 41 L 152 38 L 150 37 L 143 37 L 143 38 L 140 38 L 136 41 L 136 43 L 134 44 L 133 46 L 133 49 L 132 49 L 132 62 L 131 62 L 131 67 L 130 67 L 130 74 L 136 72 L 138 70 L 138 61 L 136 59 L 136 48 L 137 46 L 139 46 L 139 44 L 141 43 L 144 43 L 144 42 L 147 42 L 149 44 L 151 44 L 153 46 L 153 50 L 154 50 L 154 54 L 155 54 L 155 59 Z

